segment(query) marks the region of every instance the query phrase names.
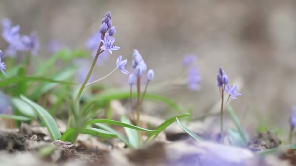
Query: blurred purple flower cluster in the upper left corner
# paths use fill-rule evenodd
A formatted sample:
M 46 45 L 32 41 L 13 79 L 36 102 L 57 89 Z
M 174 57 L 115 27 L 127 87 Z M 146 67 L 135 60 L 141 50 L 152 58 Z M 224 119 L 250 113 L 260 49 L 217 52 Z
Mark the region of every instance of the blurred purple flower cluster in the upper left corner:
M 29 36 L 20 35 L 19 30 L 20 26 L 12 26 L 9 19 L 2 20 L 2 37 L 9 44 L 5 55 L 16 55 L 17 51 L 31 51 L 32 55 L 36 55 L 39 48 L 36 33 L 32 32 Z

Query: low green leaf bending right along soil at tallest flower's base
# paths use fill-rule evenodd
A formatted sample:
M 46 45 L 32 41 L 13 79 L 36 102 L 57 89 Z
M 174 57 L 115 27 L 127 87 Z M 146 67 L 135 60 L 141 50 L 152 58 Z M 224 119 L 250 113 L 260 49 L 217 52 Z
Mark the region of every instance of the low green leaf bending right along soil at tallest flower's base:
M 117 135 L 105 130 L 87 127 L 87 128 L 70 128 L 62 136 L 62 141 L 74 142 L 77 138 L 76 134 L 88 134 L 102 138 L 117 138 Z

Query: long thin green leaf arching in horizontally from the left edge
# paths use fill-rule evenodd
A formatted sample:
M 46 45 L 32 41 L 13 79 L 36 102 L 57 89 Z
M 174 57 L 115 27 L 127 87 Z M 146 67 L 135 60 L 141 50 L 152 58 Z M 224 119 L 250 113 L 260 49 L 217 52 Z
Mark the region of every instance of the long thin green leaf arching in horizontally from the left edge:
M 30 76 L 16 76 L 16 77 L 9 77 L 9 78 L 4 78 L 3 80 L 0 81 L 0 88 L 3 86 L 7 86 L 12 83 L 19 83 L 19 82 L 28 82 L 28 81 L 34 81 L 34 82 L 52 82 L 52 83 L 63 83 L 63 84 L 75 84 L 71 82 L 65 82 L 65 81 L 58 81 L 58 80 L 53 80 L 53 79 L 48 79 L 48 78 L 43 78 L 43 77 L 30 77 Z

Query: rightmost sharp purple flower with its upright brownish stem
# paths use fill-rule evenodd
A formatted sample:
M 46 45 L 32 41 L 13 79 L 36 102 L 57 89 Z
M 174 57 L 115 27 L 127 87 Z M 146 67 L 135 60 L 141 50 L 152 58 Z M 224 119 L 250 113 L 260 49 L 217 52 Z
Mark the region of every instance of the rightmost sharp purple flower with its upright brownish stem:
M 217 75 L 217 86 L 219 87 L 219 92 L 221 95 L 221 108 L 220 108 L 220 127 L 221 127 L 221 142 L 224 141 L 224 134 L 223 134 L 223 111 L 224 111 L 224 105 L 227 104 L 229 98 L 237 99 L 236 96 L 241 95 L 240 93 L 237 93 L 237 86 L 231 87 L 229 84 L 229 78 L 225 74 L 225 71 L 222 69 L 222 67 L 219 67 L 218 75 Z M 229 94 L 228 99 L 226 103 L 224 104 L 224 91 Z

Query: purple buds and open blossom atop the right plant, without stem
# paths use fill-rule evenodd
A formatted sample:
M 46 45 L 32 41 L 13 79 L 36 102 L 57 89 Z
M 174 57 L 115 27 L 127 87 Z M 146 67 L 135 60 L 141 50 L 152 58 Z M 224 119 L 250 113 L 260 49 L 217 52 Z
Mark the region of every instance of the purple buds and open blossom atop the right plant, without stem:
M 229 84 L 229 78 L 225 74 L 225 71 L 222 69 L 222 67 L 219 67 L 218 75 L 217 75 L 217 85 L 222 88 L 222 91 L 226 91 L 231 98 L 237 99 L 236 96 L 241 95 L 240 93 L 237 93 L 237 86 L 231 87 Z

